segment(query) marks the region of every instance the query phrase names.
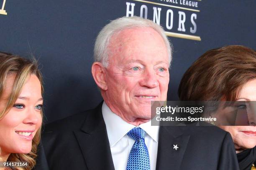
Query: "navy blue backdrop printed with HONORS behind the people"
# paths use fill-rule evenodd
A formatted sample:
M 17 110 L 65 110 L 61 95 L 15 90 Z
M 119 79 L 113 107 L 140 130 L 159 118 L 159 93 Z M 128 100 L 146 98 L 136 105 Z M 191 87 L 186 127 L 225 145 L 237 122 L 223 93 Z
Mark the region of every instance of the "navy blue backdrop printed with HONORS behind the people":
M 140 16 L 141 6 L 143 17 L 155 18 L 175 36 L 169 37 L 174 53 L 168 100 L 178 99 L 183 73 L 205 51 L 224 45 L 256 49 L 255 0 L 0 0 L 0 51 L 39 60 L 46 122 L 102 100 L 90 71 L 97 33 L 115 18 Z

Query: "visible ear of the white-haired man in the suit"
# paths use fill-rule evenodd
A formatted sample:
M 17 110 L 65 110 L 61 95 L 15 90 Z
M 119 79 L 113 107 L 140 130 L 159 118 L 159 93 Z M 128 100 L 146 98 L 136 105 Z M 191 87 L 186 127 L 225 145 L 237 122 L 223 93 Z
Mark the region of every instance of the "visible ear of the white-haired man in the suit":
M 105 67 L 103 67 L 101 62 L 94 62 L 92 64 L 92 77 L 100 89 L 108 90 Z

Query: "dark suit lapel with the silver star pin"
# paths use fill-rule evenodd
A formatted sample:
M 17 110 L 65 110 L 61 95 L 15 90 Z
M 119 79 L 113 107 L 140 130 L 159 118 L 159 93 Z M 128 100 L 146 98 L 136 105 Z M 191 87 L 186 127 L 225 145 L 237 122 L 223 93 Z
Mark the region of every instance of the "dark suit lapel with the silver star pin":
M 156 170 L 179 170 L 189 141 L 182 126 L 160 126 Z M 174 145 L 179 147 L 174 149 Z

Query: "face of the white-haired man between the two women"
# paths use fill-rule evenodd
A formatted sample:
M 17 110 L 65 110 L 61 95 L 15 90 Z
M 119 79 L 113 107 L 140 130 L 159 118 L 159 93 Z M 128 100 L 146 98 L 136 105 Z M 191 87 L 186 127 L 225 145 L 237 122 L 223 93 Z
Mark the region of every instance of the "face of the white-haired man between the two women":
M 110 40 L 105 102 L 127 122 L 148 121 L 151 101 L 166 100 L 169 57 L 152 28 L 123 30 Z

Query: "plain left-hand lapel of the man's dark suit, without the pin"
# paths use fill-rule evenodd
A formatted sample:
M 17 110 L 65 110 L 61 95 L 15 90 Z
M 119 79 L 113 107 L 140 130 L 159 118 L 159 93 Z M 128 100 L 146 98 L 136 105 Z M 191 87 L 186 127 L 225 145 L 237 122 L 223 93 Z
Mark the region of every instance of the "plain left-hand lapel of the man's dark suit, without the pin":
M 81 130 L 74 131 L 88 170 L 114 170 L 101 106 L 87 116 Z

